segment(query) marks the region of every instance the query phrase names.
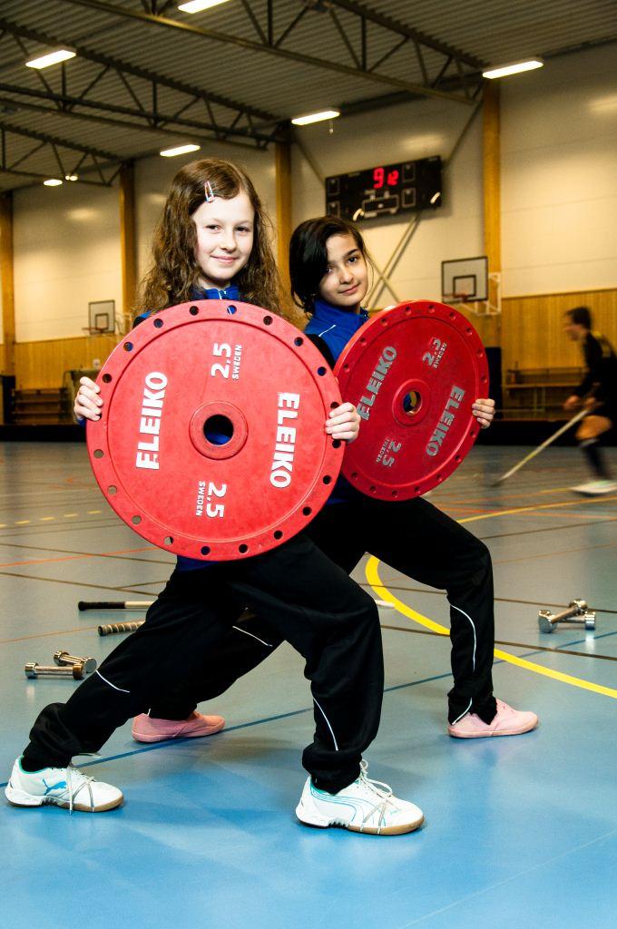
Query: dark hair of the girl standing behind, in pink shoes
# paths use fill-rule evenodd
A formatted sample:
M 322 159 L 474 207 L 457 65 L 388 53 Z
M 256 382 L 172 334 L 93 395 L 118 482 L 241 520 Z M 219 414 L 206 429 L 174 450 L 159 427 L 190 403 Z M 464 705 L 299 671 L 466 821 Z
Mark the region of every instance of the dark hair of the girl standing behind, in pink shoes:
M 315 309 L 315 297 L 319 293 L 320 281 L 328 267 L 326 243 L 333 235 L 353 236 L 361 255 L 366 261 L 371 262 L 360 229 L 347 219 L 339 219 L 338 216 L 318 216 L 300 223 L 294 229 L 289 242 L 289 278 L 294 302 L 306 313 L 312 313 Z

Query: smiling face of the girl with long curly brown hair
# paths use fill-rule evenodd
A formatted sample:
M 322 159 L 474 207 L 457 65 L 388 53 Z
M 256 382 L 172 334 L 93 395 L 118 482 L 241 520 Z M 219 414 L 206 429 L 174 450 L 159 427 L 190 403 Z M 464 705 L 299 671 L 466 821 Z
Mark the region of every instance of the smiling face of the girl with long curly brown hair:
M 202 269 L 200 283 L 219 290 L 229 286 L 251 256 L 255 210 L 242 190 L 230 200 L 216 197 L 192 215 L 197 230 L 195 257 Z

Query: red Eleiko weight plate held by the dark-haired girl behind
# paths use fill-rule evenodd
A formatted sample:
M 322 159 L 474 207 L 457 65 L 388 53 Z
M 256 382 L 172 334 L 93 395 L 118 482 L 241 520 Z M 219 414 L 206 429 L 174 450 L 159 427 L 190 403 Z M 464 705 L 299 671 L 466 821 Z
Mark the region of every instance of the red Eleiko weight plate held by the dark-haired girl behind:
M 343 399 L 361 415 L 343 474 L 368 496 L 408 500 L 448 478 L 479 426 L 488 365 L 479 334 L 452 307 L 427 300 L 385 309 L 336 362 Z

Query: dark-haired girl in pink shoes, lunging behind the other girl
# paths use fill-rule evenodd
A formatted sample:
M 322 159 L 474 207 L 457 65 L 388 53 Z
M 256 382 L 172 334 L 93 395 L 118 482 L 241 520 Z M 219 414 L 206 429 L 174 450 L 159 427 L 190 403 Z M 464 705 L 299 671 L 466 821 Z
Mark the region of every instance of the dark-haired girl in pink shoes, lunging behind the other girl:
M 368 320 L 361 303 L 369 287 L 369 260 L 360 231 L 335 216 L 309 219 L 292 236 L 292 292 L 310 314 L 305 333 L 331 364 Z M 491 399 L 476 400 L 472 410 L 480 426 L 491 424 Z M 484 543 L 421 497 L 375 500 L 342 477 L 308 532 L 348 573 L 369 552 L 415 581 L 446 590 L 453 669 L 447 726 L 451 736 L 513 736 L 537 726 L 535 713 L 514 710 L 492 694 L 492 563 Z M 192 690 L 187 686 L 157 700 L 158 717 L 186 717 L 196 702 L 217 696 L 281 641 L 267 614 L 237 623 L 236 630 L 250 632 L 253 638 L 237 631 L 230 634 L 220 653 L 211 653 L 208 663 L 191 674 Z

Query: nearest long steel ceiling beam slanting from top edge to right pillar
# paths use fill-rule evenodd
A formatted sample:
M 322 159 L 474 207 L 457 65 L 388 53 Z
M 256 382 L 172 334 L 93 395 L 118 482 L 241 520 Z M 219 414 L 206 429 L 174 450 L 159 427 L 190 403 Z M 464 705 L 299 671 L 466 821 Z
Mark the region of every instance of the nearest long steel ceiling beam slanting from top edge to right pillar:
M 419 94 L 422 97 L 438 97 L 453 100 L 457 103 L 466 103 L 467 105 L 473 104 L 473 99 L 468 96 L 442 91 L 438 87 L 416 84 L 411 81 L 403 81 L 400 78 L 392 77 L 391 75 L 385 73 L 379 73 L 371 70 L 370 68 L 358 68 L 355 65 L 345 65 L 336 61 L 331 61 L 329 59 L 321 59 L 312 55 L 307 55 L 300 51 L 288 50 L 286 48 L 282 48 L 281 45 L 277 42 L 270 42 L 268 38 L 267 41 L 264 42 L 261 40 L 260 36 L 258 36 L 259 41 L 246 39 L 239 35 L 222 33 L 216 29 L 207 29 L 204 26 L 196 26 L 190 22 L 171 20 L 168 17 L 161 15 L 155 16 L 151 13 L 142 12 L 138 9 L 116 7 L 114 4 L 106 2 L 106 0 L 61 0 L 61 2 L 71 4 L 72 6 L 96 9 L 99 12 L 108 13 L 111 16 L 124 17 L 128 20 L 149 23 L 152 26 L 158 26 L 159 28 L 167 30 L 176 30 L 177 32 L 201 36 L 202 38 L 210 39 L 214 42 L 220 42 L 223 45 L 231 45 L 244 48 L 249 51 L 261 52 L 265 55 L 273 56 L 275 58 L 291 60 L 295 61 L 295 63 L 301 62 L 302 64 L 310 65 L 322 71 L 345 74 L 348 77 L 361 78 L 374 84 L 396 87 L 399 90 L 405 90 L 411 94 Z M 287 34 L 289 34 L 289 32 L 289 30 L 286 31 Z

